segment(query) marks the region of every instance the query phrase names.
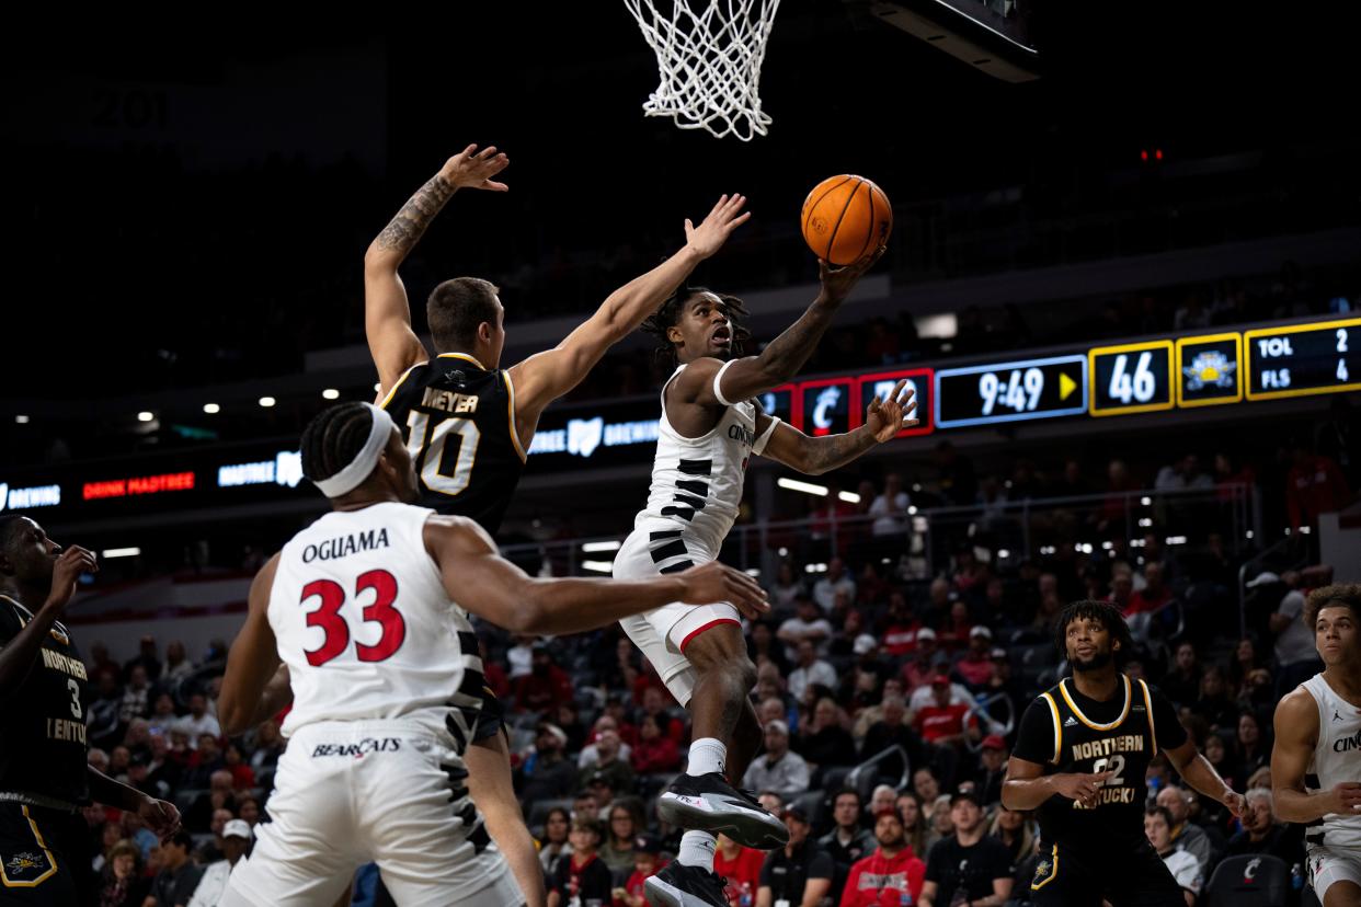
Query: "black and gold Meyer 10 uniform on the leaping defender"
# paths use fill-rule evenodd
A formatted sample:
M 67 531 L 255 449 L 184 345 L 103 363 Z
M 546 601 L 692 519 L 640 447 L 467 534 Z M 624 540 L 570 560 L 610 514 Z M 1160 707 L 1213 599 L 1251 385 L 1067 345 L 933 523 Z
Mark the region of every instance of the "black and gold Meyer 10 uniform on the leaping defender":
M 465 352 L 407 370 L 382 401 L 415 462 L 421 506 L 467 517 L 494 538 L 520 484 L 525 451 L 514 427 L 514 385 Z M 474 740 L 495 736 L 505 708 L 483 691 Z

